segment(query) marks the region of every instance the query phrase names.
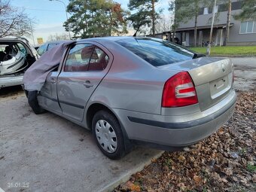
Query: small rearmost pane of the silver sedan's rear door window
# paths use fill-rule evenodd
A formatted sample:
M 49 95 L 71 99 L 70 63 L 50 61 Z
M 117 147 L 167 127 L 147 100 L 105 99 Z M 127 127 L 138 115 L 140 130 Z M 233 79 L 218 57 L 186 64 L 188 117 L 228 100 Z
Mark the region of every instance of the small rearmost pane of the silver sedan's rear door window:
M 108 65 L 109 57 L 99 47 L 95 47 L 93 54 L 90 57 L 90 64 L 88 71 L 102 71 Z

